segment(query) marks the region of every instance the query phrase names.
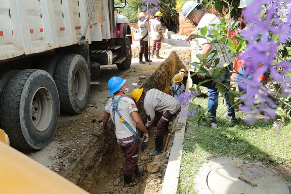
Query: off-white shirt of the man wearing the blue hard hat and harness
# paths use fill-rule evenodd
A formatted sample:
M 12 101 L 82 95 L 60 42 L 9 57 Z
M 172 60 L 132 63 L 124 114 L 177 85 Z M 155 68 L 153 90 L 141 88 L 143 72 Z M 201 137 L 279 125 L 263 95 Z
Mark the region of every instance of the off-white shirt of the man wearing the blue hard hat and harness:
M 133 119 L 132 119 L 132 117 L 130 115 L 130 113 L 132 113 L 134 111 L 138 112 L 136 104 L 128 96 L 126 96 L 126 95 L 122 95 L 122 96 L 123 97 L 118 102 L 118 111 L 121 114 L 121 116 L 123 117 L 123 119 L 126 122 L 128 122 L 130 127 L 132 129 L 134 129 L 135 132 L 137 133 L 136 124 L 135 124 L 135 122 L 133 121 Z M 114 96 L 115 101 L 119 97 L 120 97 L 119 95 L 115 95 Z M 113 106 L 112 106 L 112 98 L 110 98 L 107 101 L 107 104 L 105 106 L 105 111 L 107 113 L 110 113 L 111 118 L 113 120 L 112 108 L 113 108 Z M 127 138 L 127 137 L 130 137 L 130 136 L 133 135 L 130 132 L 130 130 L 123 123 L 120 122 L 117 112 L 115 112 L 115 121 L 113 121 L 113 123 L 115 124 L 115 129 L 116 129 L 115 130 L 115 134 L 116 134 L 116 138 L 117 139 L 123 139 L 123 138 Z

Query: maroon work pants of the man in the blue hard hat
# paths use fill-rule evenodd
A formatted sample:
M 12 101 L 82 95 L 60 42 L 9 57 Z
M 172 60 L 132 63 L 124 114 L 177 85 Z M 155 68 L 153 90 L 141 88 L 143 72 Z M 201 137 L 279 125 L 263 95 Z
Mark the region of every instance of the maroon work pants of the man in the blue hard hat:
M 124 146 L 128 146 L 134 136 L 130 136 L 124 139 L 117 139 L 117 144 L 121 147 L 122 152 L 125 154 L 125 165 L 123 167 L 124 174 L 133 175 L 134 169 L 137 166 L 139 142 L 136 140 L 135 144 L 128 149 L 124 149 Z

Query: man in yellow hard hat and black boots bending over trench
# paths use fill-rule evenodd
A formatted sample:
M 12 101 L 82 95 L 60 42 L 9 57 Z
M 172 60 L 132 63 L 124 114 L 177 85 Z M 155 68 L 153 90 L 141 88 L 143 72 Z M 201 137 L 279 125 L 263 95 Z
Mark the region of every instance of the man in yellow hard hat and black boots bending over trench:
M 162 113 L 162 117 L 157 125 L 155 134 L 156 148 L 150 156 L 155 156 L 162 152 L 163 136 L 169 127 L 169 120 L 180 111 L 180 104 L 175 97 L 167 95 L 158 89 L 150 89 L 146 93 L 144 88 L 135 89 L 131 92 L 135 102 L 143 102 L 146 111 L 146 127 L 150 127 L 155 120 L 155 111 Z

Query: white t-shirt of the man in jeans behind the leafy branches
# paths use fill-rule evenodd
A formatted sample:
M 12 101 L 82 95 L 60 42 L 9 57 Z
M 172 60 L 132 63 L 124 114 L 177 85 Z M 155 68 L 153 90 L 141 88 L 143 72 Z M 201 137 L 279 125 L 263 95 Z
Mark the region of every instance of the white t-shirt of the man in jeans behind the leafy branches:
M 206 36 L 213 34 L 212 30 L 215 30 L 214 26 L 211 26 L 210 24 L 219 24 L 221 23 L 220 19 L 213 15 L 213 14 L 209 14 L 209 13 L 205 13 L 204 16 L 201 18 L 200 22 L 197 25 L 197 34 L 201 34 L 200 31 L 203 27 L 207 26 L 207 33 Z M 202 54 L 202 48 L 204 44 L 207 44 L 207 40 L 204 38 L 197 38 L 197 54 Z M 216 47 L 216 48 L 215 48 Z M 217 44 L 211 45 L 211 50 L 220 50 Z M 221 54 L 221 53 L 219 53 Z M 230 55 L 227 53 L 228 57 L 230 57 Z M 227 59 L 226 59 L 227 61 Z M 219 64 L 216 65 L 216 67 L 219 68 L 223 68 L 222 64 L 226 63 L 226 61 L 224 60 L 224 57 L 221 58 L 221 61 Z M 200 62 L 198 59 L 195 62 Z M 190 71 L 194 71 L 194 66 L 191 65 L 190 67 Z M 209 72 L 212 72 L 212 68 L 209 69 Z

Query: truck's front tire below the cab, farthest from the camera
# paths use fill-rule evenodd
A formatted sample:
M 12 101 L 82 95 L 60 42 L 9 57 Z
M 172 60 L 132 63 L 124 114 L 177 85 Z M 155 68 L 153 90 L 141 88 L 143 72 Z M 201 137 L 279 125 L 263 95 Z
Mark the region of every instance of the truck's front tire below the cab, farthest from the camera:
M 121 64 L 117 64 L 118 69 L 120 70 L 125 70 L 125 69 L 129 69 L 130 65 L 131 65 L 131 56 L 132 56 L 132 52 L 131 52 L 131 45 L 130 45 L 130 40 L 128 37 L 125 37 L 125 39 L 122 39 L 124 43 L 121 43 L 121 52 L 122 53 L 126 53 L 126 59 L 124 60 L 124 62 L 122 62 Z

